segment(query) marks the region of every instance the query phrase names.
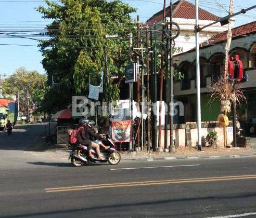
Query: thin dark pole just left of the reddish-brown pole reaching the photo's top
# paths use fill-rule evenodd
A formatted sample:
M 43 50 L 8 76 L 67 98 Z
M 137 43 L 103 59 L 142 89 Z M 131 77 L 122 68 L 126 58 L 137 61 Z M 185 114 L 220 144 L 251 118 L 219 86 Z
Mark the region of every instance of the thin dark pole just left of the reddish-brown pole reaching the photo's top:
M 155 32 L 155 49 L 154 49 L 154 103 L 157 105 L 157 21 L 154 23 Z M 156 151 L 157 147 L 157 113 L 154 115 L 154 140 L 153 140 L 153 151 Z

